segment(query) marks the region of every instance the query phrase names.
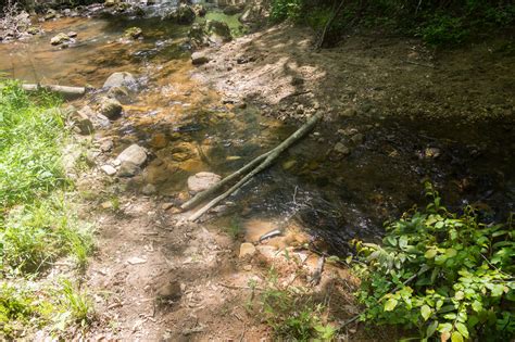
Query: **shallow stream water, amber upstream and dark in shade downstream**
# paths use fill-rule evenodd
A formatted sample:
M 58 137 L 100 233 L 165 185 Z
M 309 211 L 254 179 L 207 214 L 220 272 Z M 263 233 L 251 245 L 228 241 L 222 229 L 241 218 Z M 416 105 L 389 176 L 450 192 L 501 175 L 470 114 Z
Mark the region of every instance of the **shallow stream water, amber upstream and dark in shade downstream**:
M 142 28 L 145 38 L 123 39 L 131 26 Z M 263 117 L 260 107 L 223 104 L 219 93 L 194 81 L 184 48 L 187 26 L 117 16 L 66 17 L 46 22 L 43 28 L 40 37 L 0 45 L 0 72 L 29 83 L 93 87 L 118 71 L 139 76 L 142 91 L 124 103 L 123 117 L 101 134 L 114 139 L 114 154 L 134 142 L 152 151 L 128 189 L 153 183 L 160 195 L 180 199 L 188 176 L 203 170 L 227 175 L 294 130 Z M 78 34 L 77 43 L 67 49 L 49 43 L 53 35 L 71 30 Z M 344 252 L 350 239 L 380 236 L 384 220 L 424 203 L 425 178 L 445 189 L 452 206 L 475 203 L 490 219 L 513 212 L 513 131 L 502 125 L 442 129 L 366 117 L 346 124 L 363 134 L 351 155 L 335 159 L 332 147 L 316 136 L 304 139 L 231 197 L 224 215 L 210 223 L 230 227 L 252 221 L 249 229 L 263 230 L 300 225 Z M 431 148 L 438 157 L 427 155 Z

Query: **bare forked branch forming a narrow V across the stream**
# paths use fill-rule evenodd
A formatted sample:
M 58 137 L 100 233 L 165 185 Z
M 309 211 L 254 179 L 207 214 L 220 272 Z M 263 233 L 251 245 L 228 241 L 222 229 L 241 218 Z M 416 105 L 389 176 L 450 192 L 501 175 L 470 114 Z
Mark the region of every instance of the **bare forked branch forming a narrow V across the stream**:
M 254 168 L 250 174 L 241 178 L 236 185 L 234 185 L 229 190 L 226 192 L 222 193 L 217 198 L 213 199 L 211 202 L 205 204 L 203 207 L 201 207 L 197 213 L 192 214 L 188 219 L 191 221 L 197 220 L 200 216 L 202 216 L 204 213 L 206 213 L 210 208 L 218 204 L 221 201 L 229 197 L 233 192 L 235 192 L 238 188 L 240 188 L 242 185 L 244 185 L 249 179 L 254 177 L 256 174 L 262 172 L 263 169 L 267 168 L 271 166 L 274 161 L 279 156 L 280 153 L 282 153 L 286 149 L 288 149 L 290 145 L 292 145 L 297 140 L 302 138 L 306 132 L 309 132 L 315 124 L 322 118 L 322 112 L 315 114 L 312 116 L 301 128 L 299 128 L 294 134 L 292 134 L 288 139 L 279 143 L 275 149 L 272 151 L 264 153 L 256 159 L 254 159 L 252 162 L 237 170 L 236 173 L 229 175 L 228 177 L 222 179 L 219 182 L 214 185 L 213 187 L 204 190 L 203 192 L 198 193 L 194 198 L 192 198 L 190 201 L 186 202 L 183 204 L 181 208 L 187 210 L 194 204 L 201 202 L 202 200 L 205 200 L 208 197 L 210 197 L 212 193 L 216 192 L 218 189 L 221 189 L 223 186 L 225 186 L 228 181 L 231 179 L 239 177 L 243 175 L 246 172 L 250 170 L 254 165 L 258 165 L 260 162 L 261 164 L 258 165 L 256 168 Z M 262 162 L 263 161 L 263 162 Z

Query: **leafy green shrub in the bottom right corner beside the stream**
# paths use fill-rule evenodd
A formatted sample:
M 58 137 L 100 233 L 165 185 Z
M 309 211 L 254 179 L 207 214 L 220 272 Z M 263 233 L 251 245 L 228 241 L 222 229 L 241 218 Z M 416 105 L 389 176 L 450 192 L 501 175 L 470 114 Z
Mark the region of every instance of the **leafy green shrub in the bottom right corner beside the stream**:
M 441 341 L 510 340 L 515 334 L 515 231 L 479 223 L 432 198 L 387 225 L 384 245 L 356 241 L 363 264 L 357 297 L 361 319 L 416 327 L 424 341 L 438 331 Z

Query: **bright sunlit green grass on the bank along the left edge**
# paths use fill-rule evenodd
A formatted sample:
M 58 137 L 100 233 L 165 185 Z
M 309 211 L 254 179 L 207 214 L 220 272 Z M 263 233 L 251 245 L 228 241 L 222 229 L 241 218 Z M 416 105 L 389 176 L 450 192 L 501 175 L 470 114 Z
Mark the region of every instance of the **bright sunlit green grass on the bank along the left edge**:
M 0 340 L 39 329 L 55 337 L 91 317 L 84 291 L 43 277 L 62 257 L 84 269 L 92 249 L 63 166 L 71 136 L 60 104 L 0 79 Z

